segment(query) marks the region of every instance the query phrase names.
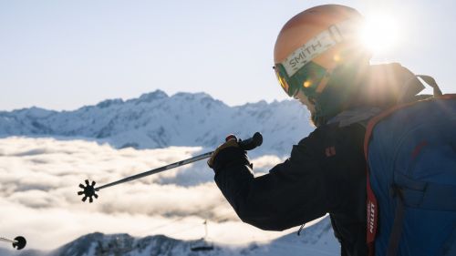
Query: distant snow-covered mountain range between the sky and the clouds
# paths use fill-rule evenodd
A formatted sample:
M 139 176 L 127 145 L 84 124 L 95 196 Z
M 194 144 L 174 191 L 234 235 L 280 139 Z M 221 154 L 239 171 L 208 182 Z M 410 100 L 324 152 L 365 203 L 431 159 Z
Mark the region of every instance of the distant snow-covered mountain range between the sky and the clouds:
M 264 135 L 263 152 L 287 154 L 313 128 L 297 101 L 260 101 L 229 107 L 204 93 L 171 97 L 157 90 L 129 100 L 108 99 L 74 111 L 24 108 L 0 112 L 0 137 L 68 137 L 108 142 L 115 148 L 202 146 L 227 134 Z

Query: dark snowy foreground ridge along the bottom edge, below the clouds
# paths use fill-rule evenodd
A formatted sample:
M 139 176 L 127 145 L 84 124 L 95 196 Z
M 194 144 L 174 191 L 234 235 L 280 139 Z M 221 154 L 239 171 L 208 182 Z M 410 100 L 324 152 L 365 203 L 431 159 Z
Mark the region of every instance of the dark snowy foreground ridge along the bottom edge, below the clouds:
M 5 256 L 108 256 L 108 255 L 208 255 L 208 256 L 268 256 L 268 255 L 338 255 L 339 245 L 331 229 L 329 218 L 303 230 L 301 236 L 295 232 L 267 243 L 251 243 L 233 246 L 214 243 L 212 251 L 192 251 L 199 241 L 179 241 L 157 235 L 134 238 L 128 234 L 91 233 L 71 241 L 54 251 L 0 250 Z M 210 242 L 206 245 L 211 245 Z

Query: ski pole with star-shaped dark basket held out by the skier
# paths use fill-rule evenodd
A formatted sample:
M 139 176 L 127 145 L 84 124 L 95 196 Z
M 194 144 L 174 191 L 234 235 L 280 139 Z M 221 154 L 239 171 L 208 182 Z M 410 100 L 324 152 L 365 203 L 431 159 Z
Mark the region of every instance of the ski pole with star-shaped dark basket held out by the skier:
M 228 138 L 233 138 L 233 135 L 228 136 L 227 139 Z M 261 133 L 255 132 L 254 137 L 247 138 L 245 140 L 238 139 L 238 143 L 239 143 L 240 148 L 243 148 L 244 150 L 251 150 L 258 146 L 261 146 L 261 144 L 263 143 L 263 136 L 261 135 Z M 141 172 L 139 174 L 136 174 L 136 175 L 124 178 L 124 179 L 119 179 L 117 181 L 113 181 L 113 182 L 105 184 L 103 186 L 99 186 L 98 188 L 95 188 L 95 184 L 96 184 L 95 181 L 92 180 L 92 182 L 90 183 L 88 181 L 88 179 L 86 179 L 85 180 L 86 186 L 84 186 L 83 184 L 79 184 L 79 188 L 81 188 L 83 190 L 78 191 L 78 195 L 79 196 L 84 195 L 84 197 L 82 198 L 82 201 L 86 201 L 88 199 L 89 202 L 93 202 L 93 198 L 98 199 L 98 194 L 96 192 L 101 189 L 106 189 L 106 188 L 109 188 L 109 187 L 112 187 L 115 185 L 119 185 L 121 183 L 129 182 L 134 179 L 140 179 L 140 178 L 143 178 L 143 177 L 155 174 L 155 173 L 159 173 L 161 171 L 165 171 L 168 169 L 174 169 L 177 167 L 181 167 L 183 165 L 190 164 L 192 162 L 199 161 L 202 159 L 209 159 L 212 156 L 212 153 L 213 153 L 213 151 L 204 153 L 202 155 L 193 157 L 191 159 L 184 159 L 179 162 L 175 162 L 170 165 L 166 165 L 166 166 L 163 166 L 163 167 L 160 167 L 157 169 L 150 169 L 148 171 Z

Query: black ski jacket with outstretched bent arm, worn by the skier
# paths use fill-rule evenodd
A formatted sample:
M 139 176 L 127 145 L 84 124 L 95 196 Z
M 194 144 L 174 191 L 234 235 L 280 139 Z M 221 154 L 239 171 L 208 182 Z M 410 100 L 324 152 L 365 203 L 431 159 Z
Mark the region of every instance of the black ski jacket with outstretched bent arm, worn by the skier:
M 237 215 L 262 230 L 285 230 L 329 213 L 341 255 L 367 255 L 365 128 L 316 128 L 268 174 L 254 177 L 244 150 L 214 159 L 215 182 Z

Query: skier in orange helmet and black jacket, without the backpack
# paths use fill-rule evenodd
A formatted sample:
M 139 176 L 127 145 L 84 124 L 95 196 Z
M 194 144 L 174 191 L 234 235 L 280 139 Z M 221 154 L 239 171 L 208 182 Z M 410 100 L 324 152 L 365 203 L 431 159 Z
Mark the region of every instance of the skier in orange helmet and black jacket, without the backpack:
M 417 100 L 422 84 L 399 64 L 371 66 L 358 32 L 363 17 L 343 5 L 319 5 L 291 18 L 275 42 L 275 73 L 289 97 L 311 113 L 316 129 L 289 159 L 254 177 L 236 139 L 208 165 L 237 215 L 263 230 L 285 230 L 329 213 L 341 255 L 368 255 L 366 120 Z

